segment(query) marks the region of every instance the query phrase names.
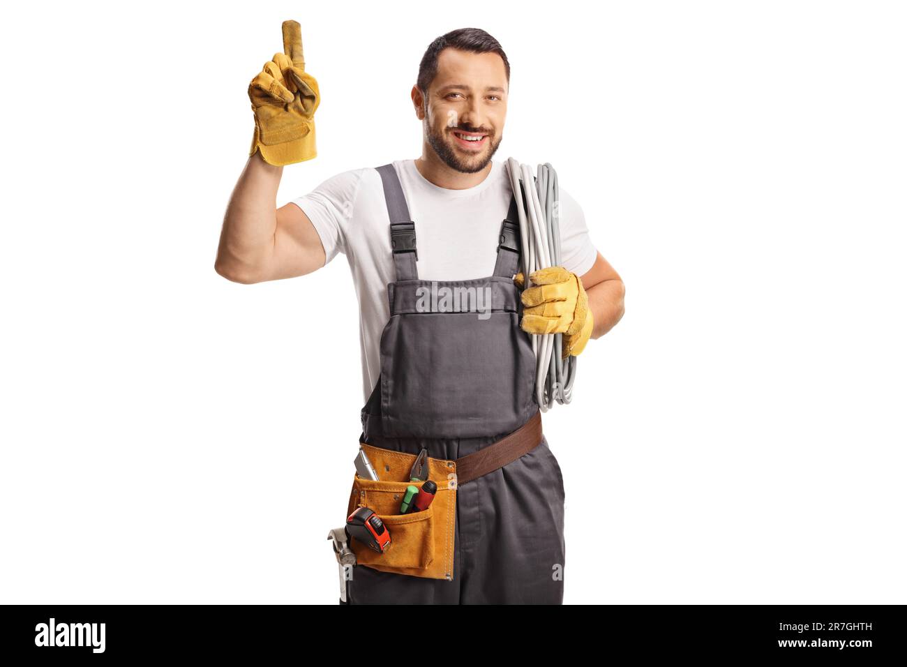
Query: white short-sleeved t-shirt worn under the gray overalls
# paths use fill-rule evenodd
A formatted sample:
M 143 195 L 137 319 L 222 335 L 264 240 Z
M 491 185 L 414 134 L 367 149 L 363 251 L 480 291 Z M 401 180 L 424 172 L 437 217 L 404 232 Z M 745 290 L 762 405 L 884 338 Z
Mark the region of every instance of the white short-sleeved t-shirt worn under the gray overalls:
M 511 200 L 504 162 L 492 161 L 485 180 L 465 190 L 427 181 L 413 160 L 397 160 L 394 167 L 415 222 L 419 278 L 471 280 L 492 275 L 501 221 Z M 560 191 L 561 264 L 581 276 L 595 263 L 597 250 L 579 204 L 563 188 Z M 338 173 L 293 203 L 315 225 L 325 263 L 343 252 L 353 273 L 365 403 L 381 371 L 381 332 L 390 318 L 387 283 L 396 280 L 381 175 L 372 167 Z

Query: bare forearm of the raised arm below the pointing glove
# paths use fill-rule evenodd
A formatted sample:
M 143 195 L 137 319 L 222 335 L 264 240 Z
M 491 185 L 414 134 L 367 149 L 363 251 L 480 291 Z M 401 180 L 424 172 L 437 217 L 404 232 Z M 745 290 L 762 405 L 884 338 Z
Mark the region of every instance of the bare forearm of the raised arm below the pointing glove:
M 262 268 L 274 253 L 277 196 L 283 167 L 275 167 L 256 152 L 246 162 L 230 195 L 220 232 L 214 269 L 229 280 L 263 280 Z

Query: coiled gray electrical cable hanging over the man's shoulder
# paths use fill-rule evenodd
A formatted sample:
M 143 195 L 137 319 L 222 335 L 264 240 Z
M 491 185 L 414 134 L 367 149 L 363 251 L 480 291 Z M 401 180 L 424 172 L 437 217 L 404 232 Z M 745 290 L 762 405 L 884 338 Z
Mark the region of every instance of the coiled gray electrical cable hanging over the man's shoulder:
M 507 160 L 507 172 L 517 203 L 522 243 L 521 270 L 525 280 L 534 270 L 561 265 L 558 174 L 550 162 L 532 175 L 528 164 Z M 532 183 L 532 187 L 526 184 Z M 522 186 L 522 187 L 521 187 Z M 535 392 L 542 412 L 554 402 L 570 403 L 576 378 L 576 357 L 561 359 L 562 335 L 532 335 L 536 359 Z

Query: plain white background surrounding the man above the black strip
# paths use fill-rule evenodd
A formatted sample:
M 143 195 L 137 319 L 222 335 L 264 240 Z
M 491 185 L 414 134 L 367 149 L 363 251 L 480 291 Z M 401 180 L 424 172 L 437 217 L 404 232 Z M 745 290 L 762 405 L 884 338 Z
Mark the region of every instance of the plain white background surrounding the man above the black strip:
M 495 159 L 551 162 L 626 282 L 544 420 L 566 603 L 907 602 L 902 6 L 6 5 L 0 602 L 336 603 L 346 259 L 213 270 L 288 18 L 322 102 L 278 205 L 418 156 L 424 48 L 479 26 Z

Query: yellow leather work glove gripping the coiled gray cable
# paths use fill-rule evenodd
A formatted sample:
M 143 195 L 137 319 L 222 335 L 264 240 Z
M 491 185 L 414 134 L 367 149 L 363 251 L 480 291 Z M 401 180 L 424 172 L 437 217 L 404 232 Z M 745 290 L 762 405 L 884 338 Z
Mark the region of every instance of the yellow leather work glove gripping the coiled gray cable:
M 517 273 L 514 282 L 522 287 L 524 277 Z M 563 334 L 561 356 L 577 356 L 592 335 L 592 311 L 582 280 L 563 267 L 548 267 L 529 274 L 531 287 L 521 299 L 523 331 L 532 334 Z

